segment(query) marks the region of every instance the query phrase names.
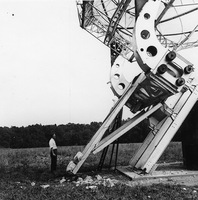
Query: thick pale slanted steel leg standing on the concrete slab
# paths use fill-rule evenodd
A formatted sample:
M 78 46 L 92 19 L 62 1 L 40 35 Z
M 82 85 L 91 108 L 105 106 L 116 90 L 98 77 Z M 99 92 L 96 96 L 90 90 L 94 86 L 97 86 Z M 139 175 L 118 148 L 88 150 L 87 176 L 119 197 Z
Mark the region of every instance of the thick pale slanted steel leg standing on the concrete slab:
M 198 99 L 198 86 L 193 91 L 188 90 L 184 94 L 177 96 L 178 101 L 172 108 L 170 115 L 161 121 L 154 120 L 156 123 L 153 124 L 153 130 L 130 161 L 131 167 L 144 170 L 146 173 L 152 170 L 152 167 L 196 103 Z M 167 103 L 169 102 L 167 101 Z

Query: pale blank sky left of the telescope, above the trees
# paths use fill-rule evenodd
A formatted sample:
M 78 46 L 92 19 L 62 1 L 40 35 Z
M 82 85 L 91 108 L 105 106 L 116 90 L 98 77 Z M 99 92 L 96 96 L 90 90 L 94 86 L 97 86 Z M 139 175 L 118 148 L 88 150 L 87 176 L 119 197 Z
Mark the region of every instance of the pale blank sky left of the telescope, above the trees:
M 75 0 L 0 0 L 0 126 L 101 122 L 109 74 L 110 51 L 80 28 Z

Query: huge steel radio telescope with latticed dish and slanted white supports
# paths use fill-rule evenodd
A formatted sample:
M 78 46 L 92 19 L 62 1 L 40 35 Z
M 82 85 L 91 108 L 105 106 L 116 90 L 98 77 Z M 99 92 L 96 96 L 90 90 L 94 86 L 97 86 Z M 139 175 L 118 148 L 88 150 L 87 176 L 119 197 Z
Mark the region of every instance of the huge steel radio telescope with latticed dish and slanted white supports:
M 77 173 L 91 152 L 147 118 L 150 133 L 129 165 L 150 173 L 198 101 L 194 64 L 178 53 L 198 46 L 198 0 L 89 0 L 77 8 L 80 26 L 110 48 L 110 83 L 118 100 L 67 170 Z M 103 137 L 123 106 L 134 116 Z

